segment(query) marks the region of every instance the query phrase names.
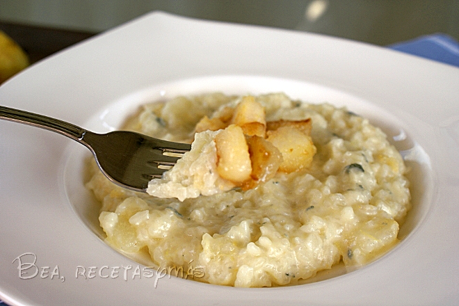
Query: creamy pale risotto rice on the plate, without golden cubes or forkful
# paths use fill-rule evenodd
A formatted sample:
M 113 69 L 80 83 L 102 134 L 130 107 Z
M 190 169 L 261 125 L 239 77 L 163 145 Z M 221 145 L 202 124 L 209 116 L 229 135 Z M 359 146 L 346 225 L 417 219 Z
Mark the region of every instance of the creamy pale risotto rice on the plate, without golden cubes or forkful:
M 147 104 L 126 129 L 190 142 L 204 115 L 218 116 L 240 99 L 216 93 Z M 248 191 L 199 191 L 204 195 L 195 198 L 186 191 L 178 200 L 115 186 L 92 164 L 86 186 L 102 202 L 107 242 L 124 252 L 148 250 L 164 268 L 199 266 L 198 280 L 236 287 L 296 284 L 340 261 L 367 264 L 392 248 L 410 191 L 403 159 L 383 131 L 329 104 L 291 101 L 282 93 L 256 100 L 266 120 L 312 119 L 311 166 L 277 172 Z

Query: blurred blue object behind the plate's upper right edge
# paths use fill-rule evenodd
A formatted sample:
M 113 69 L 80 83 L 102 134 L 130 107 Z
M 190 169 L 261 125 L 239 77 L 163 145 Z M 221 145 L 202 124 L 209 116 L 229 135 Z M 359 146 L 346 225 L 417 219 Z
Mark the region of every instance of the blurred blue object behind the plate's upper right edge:
M 421 36 L 387 47 L 459 67 L 459 42 L 442 33 Z

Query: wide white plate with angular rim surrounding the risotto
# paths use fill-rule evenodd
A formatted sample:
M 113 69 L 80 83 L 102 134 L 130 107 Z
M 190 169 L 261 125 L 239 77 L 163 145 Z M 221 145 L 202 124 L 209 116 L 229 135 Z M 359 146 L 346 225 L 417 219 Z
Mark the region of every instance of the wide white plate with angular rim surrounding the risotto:
M 414 209 L 401 243 L 387 255 L 312 284 L 238 289 L 138 277 L 138 264 L 98 236 L 97 209 L 81 185 L 86 149 L 49 131 L 0 121 L 0 298 L 14 305 L 456 304 L 458 84 L 456 67 L 397 51 L 164 13 L 51 56 L 1 86 L 0 103 L 99 132 L 118 127 L 138 104 L 214 90 L 284 91 L 345 105 L 385 129 L 404 151 L 413 168 Z M 115 278 L 109 273 L 116 267 Z M 86 279 L 78 274 L 83 268 Z

